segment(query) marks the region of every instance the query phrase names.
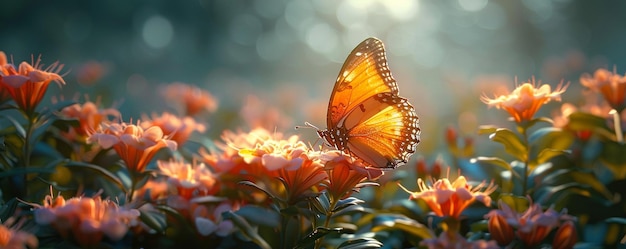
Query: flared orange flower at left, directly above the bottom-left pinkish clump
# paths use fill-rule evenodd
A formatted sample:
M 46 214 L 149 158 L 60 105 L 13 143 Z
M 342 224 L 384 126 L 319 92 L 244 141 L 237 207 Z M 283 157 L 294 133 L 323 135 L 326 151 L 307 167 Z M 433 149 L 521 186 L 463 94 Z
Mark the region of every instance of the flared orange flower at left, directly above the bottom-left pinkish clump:
M 177 146 L 176 142 L 164 137 L 157 126 L 144 130 L 127 123 L 103 124 L 87 142 L 98 143 L 105 149 L 113 147 L 131 172 L 143 172 L 157 151 L 165 147 L 176 150 Z

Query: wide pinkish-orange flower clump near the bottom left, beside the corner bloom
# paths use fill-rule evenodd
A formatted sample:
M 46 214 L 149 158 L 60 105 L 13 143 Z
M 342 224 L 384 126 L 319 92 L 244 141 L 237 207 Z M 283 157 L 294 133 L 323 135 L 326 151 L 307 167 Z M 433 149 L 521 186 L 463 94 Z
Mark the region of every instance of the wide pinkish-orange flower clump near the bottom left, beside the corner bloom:
M 120 207 L 100 196 L 65 200 L 48 195 L 43 206 L 33 205 L 37 224 L 50 224 L 63 237 L 73 238 L 85 247 L 97 245 L 103 236 L 113 241 L 122 239 L 139 217 L 138 210 Z

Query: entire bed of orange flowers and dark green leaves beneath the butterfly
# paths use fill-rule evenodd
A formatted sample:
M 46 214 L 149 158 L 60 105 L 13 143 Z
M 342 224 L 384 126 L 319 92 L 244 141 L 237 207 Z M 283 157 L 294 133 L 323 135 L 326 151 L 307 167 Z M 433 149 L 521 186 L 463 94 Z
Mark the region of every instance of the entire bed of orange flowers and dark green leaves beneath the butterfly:
M 478 155 L 476 137 L 450 127 L 431 137 L 453 161 L 418 145 L 393 171 L 274 130 L 271 113 L 242 110 L 248 127 L 204 135 L 218 102 L 190 84 L 161 91 L 177 113 L 43 103 L 74 84 L 65 72 L 0 52 L 1 248 L 625 248 L 626 76 L 615 70 L 476 96 L 510 119 L 476 131 L 499 151 Z M 572 84 L 588 101 L 536 116 L 583 94 Z

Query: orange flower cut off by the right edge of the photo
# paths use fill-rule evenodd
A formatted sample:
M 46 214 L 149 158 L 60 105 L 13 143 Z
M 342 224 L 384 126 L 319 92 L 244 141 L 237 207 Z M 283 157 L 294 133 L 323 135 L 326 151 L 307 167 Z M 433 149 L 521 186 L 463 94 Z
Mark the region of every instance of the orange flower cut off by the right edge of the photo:
M 609 105 L 618 112 L 626 108 L 626 76 L 600 68 L 596 70 L 593 77 L 587 73 L 583 74 L 580 77 L 580 83 L 601 93 Z

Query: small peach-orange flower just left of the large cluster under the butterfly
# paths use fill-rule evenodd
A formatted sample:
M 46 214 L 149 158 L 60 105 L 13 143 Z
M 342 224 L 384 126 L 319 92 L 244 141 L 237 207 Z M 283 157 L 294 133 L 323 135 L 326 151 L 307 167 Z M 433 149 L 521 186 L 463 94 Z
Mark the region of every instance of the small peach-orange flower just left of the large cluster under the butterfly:
M 204 165 L 184 161 L 157 161 L 162 174 L 174 185 L 178 195 L 189 200 L 194 194 L 213 194 L 216 192 L 216 176 Z

